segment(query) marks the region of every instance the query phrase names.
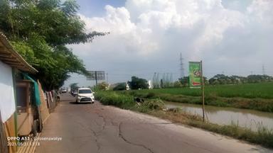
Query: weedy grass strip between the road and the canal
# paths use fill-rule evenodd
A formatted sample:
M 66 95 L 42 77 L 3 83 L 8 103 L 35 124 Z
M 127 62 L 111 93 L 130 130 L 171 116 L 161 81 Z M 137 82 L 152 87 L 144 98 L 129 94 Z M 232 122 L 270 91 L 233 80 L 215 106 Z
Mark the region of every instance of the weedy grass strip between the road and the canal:
M 173 123 L 182 123 L 196 128 L 202 128 L 208 131 L 217 132 L 221 135 L 227 135 L 239 140 L 245 140 L 264 147 L 273 148 L 273 131 L 267 130 L 262 126 L 258 127 L 257 132 L 247 128 L 240 128 L 237 124 L 217 125 L 213 123 L 203 123 L 198 115 L 191 115 L 182 111 L 180 108 L 166 109 L 164 102 L 160 98 L 151 98 L 143 103 L 136 103 L 134 96 L 124 94 L 118 91 L 97 91 L 95 98 L 104 105 L 117 106 L 119 108 L 129 109 L 159 118 L 171 120 Z

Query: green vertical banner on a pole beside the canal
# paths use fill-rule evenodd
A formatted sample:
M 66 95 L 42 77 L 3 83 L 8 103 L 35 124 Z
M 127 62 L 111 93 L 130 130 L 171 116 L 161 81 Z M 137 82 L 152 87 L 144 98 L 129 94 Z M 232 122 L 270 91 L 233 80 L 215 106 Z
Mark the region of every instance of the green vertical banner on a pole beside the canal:
M 200 88 L 201 86 L 201 64 L 200 62 L 189 62 L 189 83 L 191 88 Z

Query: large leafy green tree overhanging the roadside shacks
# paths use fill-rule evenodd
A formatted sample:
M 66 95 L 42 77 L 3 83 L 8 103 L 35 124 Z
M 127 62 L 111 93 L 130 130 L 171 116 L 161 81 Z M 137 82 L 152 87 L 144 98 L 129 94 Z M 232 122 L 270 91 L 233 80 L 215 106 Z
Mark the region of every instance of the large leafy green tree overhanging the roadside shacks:
M 77 15 L 74 0 L 1 0 L 0 29 L 23 58 L 38 70 L 36 77 L 45 90 L 58 89 L 70 73 L 87 74 L 85 65 L 68 44 L 91 42 L 93 31 Z

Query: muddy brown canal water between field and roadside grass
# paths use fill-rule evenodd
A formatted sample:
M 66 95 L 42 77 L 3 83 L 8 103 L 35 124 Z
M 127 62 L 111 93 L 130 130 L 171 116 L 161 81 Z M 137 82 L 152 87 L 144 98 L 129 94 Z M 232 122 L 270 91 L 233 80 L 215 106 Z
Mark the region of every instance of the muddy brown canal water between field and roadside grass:
M 202 106 L 200 105 L 166 102 L 166 106 L 167 108 L 179 107 L 188 113 L 202 115 Z M 219 125 L 235 123 L 242 128 L 250 128 L 255 131 L 262 125 L 269 130 L 273 130 L 273 113 L 215 106 L 205 106 L 205 112 L 210 123 Z

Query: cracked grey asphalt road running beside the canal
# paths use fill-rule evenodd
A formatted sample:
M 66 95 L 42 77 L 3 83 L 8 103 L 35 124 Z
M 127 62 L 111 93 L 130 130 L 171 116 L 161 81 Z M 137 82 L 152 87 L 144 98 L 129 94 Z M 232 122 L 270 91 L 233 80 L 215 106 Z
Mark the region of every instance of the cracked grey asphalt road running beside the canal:
M 73 96 L 61 96 L 50 114 L 37 153 L 47 152 L 272 152 L 197 128 L 176 125 L 149 115 L 113 106 L 75 104 Z

